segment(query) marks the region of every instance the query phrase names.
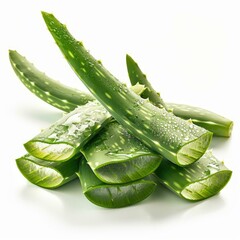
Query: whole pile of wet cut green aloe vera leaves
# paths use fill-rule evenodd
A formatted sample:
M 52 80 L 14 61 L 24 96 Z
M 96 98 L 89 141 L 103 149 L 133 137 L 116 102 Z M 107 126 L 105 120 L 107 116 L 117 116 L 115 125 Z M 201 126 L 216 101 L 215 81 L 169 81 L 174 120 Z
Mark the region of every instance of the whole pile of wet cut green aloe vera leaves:
M 36 96 L 64 116 L 24 144 L 16 160 L 31 183 L 48 189 L 80 179 L 84 195 L 107 208 L 146 199 L 159 184 L 198 201 L 217 194 L 232 171 L 208 150 L 212 135 L 230 137 L 233 122 L 205 109 L 166 103 L 126 57 L 132 87 L 117 80 L 52 14 L 48 30 L 91 94 L 65 86 L 16 51 L 11 65 Z

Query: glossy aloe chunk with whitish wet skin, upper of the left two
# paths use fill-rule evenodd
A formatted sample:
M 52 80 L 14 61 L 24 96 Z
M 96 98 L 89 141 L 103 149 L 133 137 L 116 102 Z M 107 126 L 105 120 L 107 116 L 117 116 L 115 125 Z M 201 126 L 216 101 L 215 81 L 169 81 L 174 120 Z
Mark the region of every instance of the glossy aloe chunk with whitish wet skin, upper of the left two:
M 24 146 L 34 157 L 66 161 L 110 120 L 107 110 L 98 101 L 91 101 L 66 114 Z

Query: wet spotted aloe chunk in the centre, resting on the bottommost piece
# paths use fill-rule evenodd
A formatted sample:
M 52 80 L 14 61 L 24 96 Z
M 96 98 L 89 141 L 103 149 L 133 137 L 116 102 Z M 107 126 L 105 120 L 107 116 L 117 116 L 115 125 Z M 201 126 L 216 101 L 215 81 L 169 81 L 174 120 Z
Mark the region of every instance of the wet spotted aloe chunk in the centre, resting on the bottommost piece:
M 111 122 L 81 150 L 94 174 L 106 183 L 126 183 L 146 177 L 162 156 L 147 148 L 117 122 Z

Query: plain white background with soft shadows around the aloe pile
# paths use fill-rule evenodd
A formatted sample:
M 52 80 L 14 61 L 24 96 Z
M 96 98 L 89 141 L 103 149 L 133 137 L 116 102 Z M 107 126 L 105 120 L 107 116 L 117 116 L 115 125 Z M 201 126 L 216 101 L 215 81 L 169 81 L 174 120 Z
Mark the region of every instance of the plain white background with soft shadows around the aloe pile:
M 0 239 L 239 239 L 239 1 L 0 2 Z M 128 82 L 130 54 L 167 101 L 213 110 L 235 125 L 214 139 L 219 159 L 233 170 L 229 184 L 206 201 L 189 203 L 164 188 L 128 208 L 91 204 L 75 181 L 50 191 L 28 183 L 15 159 L 23 143 L 62 113 L 30 93 L 15 76 L 8 49 L 39 69 L 83 88 L 46 29 L 40 11 L 66 23 L 91 53 Z

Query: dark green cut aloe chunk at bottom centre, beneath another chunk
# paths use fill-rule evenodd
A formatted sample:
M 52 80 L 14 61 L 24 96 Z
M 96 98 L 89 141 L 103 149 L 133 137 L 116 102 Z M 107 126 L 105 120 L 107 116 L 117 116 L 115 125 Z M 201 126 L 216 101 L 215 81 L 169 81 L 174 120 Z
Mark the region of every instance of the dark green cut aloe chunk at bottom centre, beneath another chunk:
M 77 173 L 82 191 L 89 201 L 105 208 L 121 208 L 146 199 L 156 188 L 151 176 L 124 184 L 106 184 L 93 173 L 85 159 Z

